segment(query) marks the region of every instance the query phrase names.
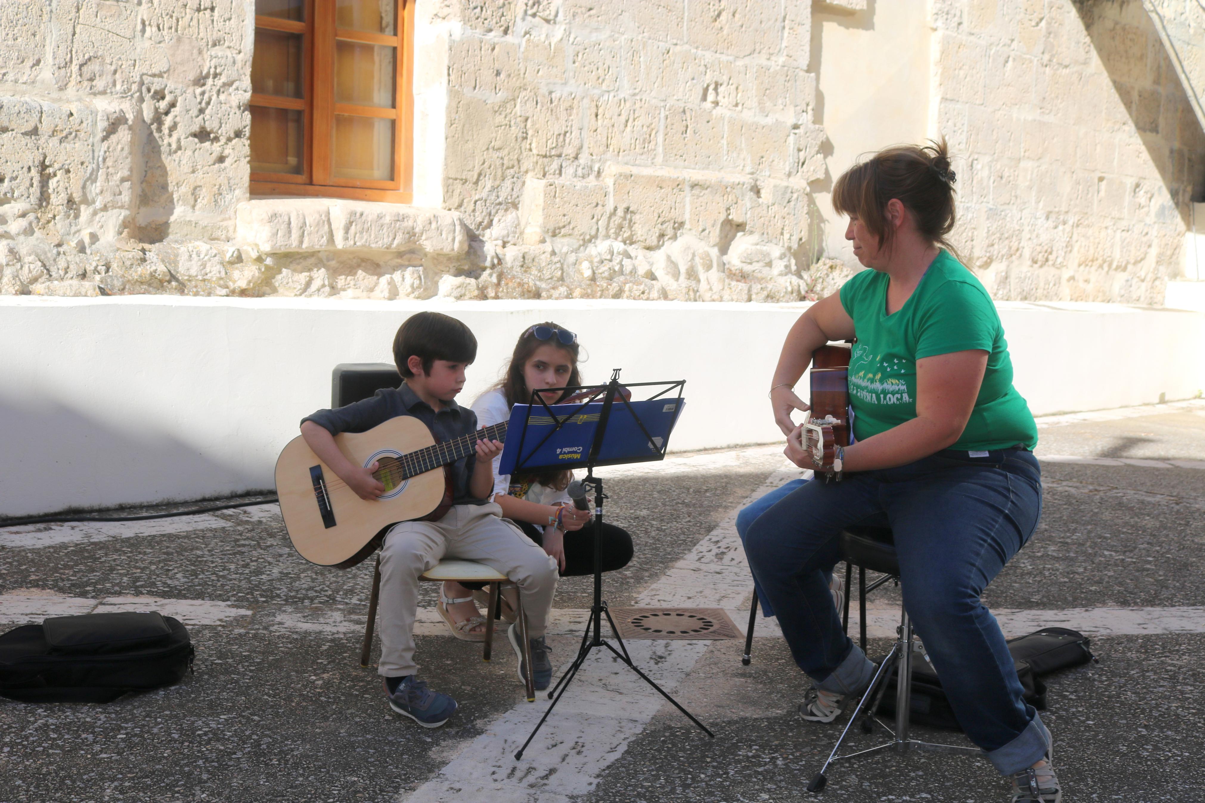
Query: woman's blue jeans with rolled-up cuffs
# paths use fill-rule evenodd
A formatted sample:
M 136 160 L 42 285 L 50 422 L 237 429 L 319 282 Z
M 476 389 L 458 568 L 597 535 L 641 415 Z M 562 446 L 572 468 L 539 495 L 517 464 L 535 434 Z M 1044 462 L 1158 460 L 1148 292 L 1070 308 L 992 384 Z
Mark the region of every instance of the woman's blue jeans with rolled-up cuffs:
M 825 572 L 848 525 L 889 526 L 904 606 L 966 736 L 1003 774 L 1040 760 L 1050 734 L 1022 699 L 1004 633 L 980 601 L 1041 515 L 1041 470 L 1024 450 L 940 451 L 797 486 L 748 529 L 753 577 L 795 663 L 821 689 L 860 691 L 872 665 L 841 630 Z

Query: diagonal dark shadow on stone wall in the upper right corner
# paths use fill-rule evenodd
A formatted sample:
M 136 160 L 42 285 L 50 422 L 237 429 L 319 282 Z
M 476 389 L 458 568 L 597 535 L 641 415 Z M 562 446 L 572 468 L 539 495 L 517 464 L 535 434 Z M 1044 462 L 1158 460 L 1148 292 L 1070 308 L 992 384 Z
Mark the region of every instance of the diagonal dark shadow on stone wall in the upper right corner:
M 1176 201 L 1181 222 L 1189 226 L 1188 202 L 1205 189 L 1205 132 L 1154 23 L 1139 0 L 1075 0 L 1072 5 L 1163 185 Z

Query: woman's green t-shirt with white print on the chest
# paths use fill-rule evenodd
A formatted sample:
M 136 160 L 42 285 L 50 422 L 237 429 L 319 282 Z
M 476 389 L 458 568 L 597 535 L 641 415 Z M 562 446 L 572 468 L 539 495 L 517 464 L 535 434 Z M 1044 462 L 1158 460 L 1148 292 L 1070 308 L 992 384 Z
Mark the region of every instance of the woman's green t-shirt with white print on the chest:
M 1012 386 L 1012 361 L 995 305 L 980 281 L 942 249 L 912 296 L 887 314 L 890 277 L 868 270 L 841 288 L 858 342 L 850 358 L 850 403 L 859 441 L 916 418 L 916 361 L 982 349 L 987 371 L 975 409 L 951 449 L 968 451 L 1038 444 L 1025 400 Z

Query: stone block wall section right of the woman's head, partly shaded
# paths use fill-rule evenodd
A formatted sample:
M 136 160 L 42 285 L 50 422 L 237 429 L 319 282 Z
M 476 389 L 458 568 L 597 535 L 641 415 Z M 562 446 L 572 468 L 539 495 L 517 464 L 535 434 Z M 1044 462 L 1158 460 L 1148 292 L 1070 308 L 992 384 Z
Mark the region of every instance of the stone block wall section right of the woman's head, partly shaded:
M 934 130 L 998 299 L 1163 302 L 1205 135 L 1139 0 L 936 0 Z

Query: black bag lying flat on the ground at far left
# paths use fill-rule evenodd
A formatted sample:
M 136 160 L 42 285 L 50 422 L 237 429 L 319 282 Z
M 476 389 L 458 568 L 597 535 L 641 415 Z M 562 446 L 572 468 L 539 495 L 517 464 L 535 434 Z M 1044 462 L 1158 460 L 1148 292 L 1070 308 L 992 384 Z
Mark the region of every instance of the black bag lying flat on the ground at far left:
M 107 703 L 178 683 L 188 630 L 158 613 L 55 616 L 0 636 L 0 696 L 27 703 Z

